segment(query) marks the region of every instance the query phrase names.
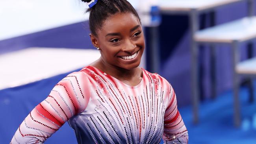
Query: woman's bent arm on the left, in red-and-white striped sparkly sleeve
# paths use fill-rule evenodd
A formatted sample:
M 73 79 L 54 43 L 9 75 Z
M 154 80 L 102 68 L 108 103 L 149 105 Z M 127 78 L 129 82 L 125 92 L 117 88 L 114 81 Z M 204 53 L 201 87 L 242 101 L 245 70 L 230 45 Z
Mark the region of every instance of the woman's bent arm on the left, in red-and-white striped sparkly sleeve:
M 45 142 L 69 118 L 87 107 L 89 96 L 87 76 L 83 72 L 69 74 L 28 114 L 13 136 L 11 144 Z

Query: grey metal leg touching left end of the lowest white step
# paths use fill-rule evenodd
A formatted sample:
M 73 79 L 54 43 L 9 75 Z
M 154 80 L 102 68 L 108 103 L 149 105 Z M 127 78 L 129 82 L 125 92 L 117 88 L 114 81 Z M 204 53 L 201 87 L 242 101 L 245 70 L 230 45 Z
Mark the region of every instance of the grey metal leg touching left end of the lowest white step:
M 240 101 L 239 101 L 239 78 L 238 78 L 238 74 L 236 73 L 236 65 L 239 62 L 237 41 L 234 41 L 232 43 L 232 53 L 233 53 L 234 124 L 236 127 L 239 127 L 241 124 L 241 118 L 240 118 Z

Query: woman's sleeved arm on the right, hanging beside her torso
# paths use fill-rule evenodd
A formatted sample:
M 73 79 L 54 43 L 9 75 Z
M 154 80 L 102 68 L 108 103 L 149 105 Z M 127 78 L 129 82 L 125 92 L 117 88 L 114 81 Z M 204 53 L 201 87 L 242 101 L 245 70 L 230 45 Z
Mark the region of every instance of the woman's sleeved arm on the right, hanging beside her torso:
M 163 141 L 165 144 L 188 143 L 187 129 L 177 109 L 176 94 L 171 85 L 164 115 Z

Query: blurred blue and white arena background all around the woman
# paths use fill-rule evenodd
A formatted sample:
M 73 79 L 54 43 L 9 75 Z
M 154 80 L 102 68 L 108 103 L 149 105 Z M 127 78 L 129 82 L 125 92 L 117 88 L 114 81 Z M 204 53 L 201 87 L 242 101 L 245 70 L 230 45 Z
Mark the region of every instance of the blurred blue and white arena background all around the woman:
M 128 0 L 141 66 L 174 87 L 189 144 L 256 143 L 256 0 Z M 0 0 L 0 143 L 59 80 L 100 57 L 79 0 Z M 65 124 L 46 144 L 77 143 Z M 163 142 L 161 142 L 163 143 Z

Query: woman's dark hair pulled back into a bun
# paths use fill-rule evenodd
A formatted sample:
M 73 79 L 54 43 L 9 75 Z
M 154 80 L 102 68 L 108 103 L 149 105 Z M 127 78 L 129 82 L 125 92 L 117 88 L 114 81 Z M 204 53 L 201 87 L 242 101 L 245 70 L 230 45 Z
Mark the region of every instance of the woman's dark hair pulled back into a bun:
M 82 0 L 83 2 L 91 2 L 91 0 Z M 138 13 L 127 0 L 98 0 L 95 6 L 88 8 L 86 12 L 90 12 L 89 26 L 91 33 L 97 36 L 96 31 L 100 30 L 104 20 L 116 13 L 132 13 L 141 22 Z

